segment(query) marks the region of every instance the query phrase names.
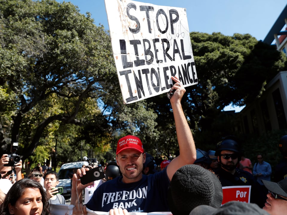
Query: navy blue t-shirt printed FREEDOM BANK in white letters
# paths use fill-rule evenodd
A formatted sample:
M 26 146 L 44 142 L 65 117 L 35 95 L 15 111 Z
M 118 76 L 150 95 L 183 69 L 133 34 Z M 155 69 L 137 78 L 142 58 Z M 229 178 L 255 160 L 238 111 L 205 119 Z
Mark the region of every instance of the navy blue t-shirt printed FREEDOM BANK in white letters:
M 167 168 L 155 174 L 143 175 L 138 182 L 123 183 L 117 177 L 100 185 L 86 204 L 92 211 L 126 208 L 129 212 L 170 211 L 167 190 L 170 180 Z

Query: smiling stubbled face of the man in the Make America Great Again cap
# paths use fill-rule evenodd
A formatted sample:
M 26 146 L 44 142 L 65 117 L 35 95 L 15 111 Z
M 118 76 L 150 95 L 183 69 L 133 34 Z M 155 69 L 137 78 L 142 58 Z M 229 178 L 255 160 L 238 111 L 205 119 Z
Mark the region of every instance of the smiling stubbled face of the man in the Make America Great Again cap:
M 132 183 L 141 180 L 146 154 L 134 149 L 126 149 L 117 154 L 117 165 L 123 174 L 124 183 Z

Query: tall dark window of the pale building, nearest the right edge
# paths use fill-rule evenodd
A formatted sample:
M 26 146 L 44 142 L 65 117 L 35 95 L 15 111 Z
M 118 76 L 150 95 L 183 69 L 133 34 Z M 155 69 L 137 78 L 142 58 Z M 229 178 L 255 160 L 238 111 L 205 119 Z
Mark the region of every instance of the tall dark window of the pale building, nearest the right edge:
M 274 92 L 272 92 L 272 97 L 276 110 L 279 129 L 286 129 L 287 128 L 286 117 L 284 113 L 284 107 L 279 88 L 277 88 L 276 90 L 274 90 Z

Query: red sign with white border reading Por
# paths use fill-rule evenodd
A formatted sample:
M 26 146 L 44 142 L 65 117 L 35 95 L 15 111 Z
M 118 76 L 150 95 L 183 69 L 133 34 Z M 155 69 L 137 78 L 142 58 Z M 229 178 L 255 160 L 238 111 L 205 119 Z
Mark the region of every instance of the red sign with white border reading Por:
M 222 187 L 222 205 L 230 201 L 250 203 L 251 185 L 249 186 L 226 186 Z

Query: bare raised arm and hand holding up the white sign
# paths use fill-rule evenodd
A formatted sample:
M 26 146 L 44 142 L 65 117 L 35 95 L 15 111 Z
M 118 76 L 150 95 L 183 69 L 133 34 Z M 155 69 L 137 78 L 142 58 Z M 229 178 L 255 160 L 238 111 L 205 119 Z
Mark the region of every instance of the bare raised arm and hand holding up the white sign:
M 184 87 L 181 85 L 180 81 L 176 77 L 172 77 L 172 80 L 176 83 L 171 89 L 175 92 L 170 98 L 170 103 L 172 106 L 176 135 L 179 146 L 179 156 L 173 159 L 167 166 L 167 176 L 172 179 L 173 174 L 182 166 L 187 164 L 193 164 L 196 160 L 196 148 L 193 140 L 190 127 L 188 126 L 186 117 L 181 107 L 181 98 L 185 93 Z

